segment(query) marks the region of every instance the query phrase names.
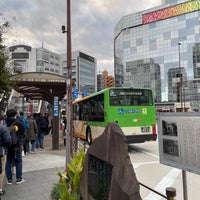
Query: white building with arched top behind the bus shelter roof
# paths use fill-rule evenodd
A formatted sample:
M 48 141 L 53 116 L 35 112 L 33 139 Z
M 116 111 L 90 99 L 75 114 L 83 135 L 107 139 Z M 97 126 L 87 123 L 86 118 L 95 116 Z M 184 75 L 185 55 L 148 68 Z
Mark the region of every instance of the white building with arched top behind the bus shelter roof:
M 10 67 L 13 73 L 49 72 L 61 74 L 61 56 L 43 47 L 32 48 L 27 45 L 9 47 Z

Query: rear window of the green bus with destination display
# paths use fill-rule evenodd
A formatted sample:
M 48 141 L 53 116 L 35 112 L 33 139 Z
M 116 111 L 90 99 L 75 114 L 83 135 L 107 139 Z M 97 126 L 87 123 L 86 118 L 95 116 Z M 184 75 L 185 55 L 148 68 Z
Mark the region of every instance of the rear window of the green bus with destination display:
M 110 106 L 152 106 L 151 90 L 122 88 L 110 90 Z

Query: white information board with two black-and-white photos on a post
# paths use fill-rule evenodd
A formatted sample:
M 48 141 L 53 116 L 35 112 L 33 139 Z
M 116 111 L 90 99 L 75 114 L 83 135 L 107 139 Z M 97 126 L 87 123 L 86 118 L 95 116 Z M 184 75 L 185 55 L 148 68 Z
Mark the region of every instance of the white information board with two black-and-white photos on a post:
M 200 174 L 200 113 L 158 114 L 160 162 Z

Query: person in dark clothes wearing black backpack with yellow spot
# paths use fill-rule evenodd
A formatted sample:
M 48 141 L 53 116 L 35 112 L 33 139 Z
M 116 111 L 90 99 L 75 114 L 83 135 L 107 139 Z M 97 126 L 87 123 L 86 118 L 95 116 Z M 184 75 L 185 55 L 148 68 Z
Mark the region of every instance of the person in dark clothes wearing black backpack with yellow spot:
M 15 109 L 9 109 L 6 112 L 6 124 L 7 127 L 14 126 L 17 135 L 17 142 L 16 144 L 12 144 L 8 148 L 7 153 L 7 162 L 6 162 L 6 178 L 7 184 L 13 183 L 12 177 L 12 165 L 13 161 L 15 163 L 16 168 L 16 184 L 21 184 L 25 180 L 22 178 L 22 150 L 24 144 L 24 137 L 25 137 L 25 128 L 24 124 L 17 120 L 17 111 Z M 11 138 L 12 139 L 12 138 Z

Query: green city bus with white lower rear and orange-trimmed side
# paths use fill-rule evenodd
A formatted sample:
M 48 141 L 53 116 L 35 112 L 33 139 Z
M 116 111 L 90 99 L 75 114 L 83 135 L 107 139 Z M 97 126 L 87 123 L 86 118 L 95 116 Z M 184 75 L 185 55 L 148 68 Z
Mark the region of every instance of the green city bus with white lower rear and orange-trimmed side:
M 117 122 L 127 143 L 157 139 L 151 89 L 107 88 L 73 102 L 74 136 L 91 144 L 109 122 Z

